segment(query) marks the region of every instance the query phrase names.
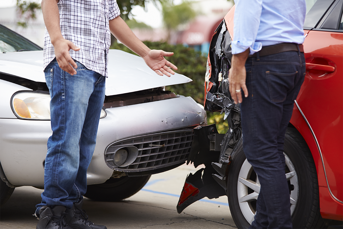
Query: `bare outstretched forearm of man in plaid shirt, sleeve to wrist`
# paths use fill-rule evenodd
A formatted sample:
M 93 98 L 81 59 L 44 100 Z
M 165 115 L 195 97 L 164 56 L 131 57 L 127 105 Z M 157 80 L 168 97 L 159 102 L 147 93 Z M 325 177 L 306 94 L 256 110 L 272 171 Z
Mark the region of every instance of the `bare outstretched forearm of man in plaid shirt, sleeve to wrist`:
M 145 57 L 150 48 L 143 44 L 136 35 L 131 31 L 129 26 L 123 21 L 120 16 L 109 21 L 111 33 L 126 47 L 137 53 L 141 57 Z

